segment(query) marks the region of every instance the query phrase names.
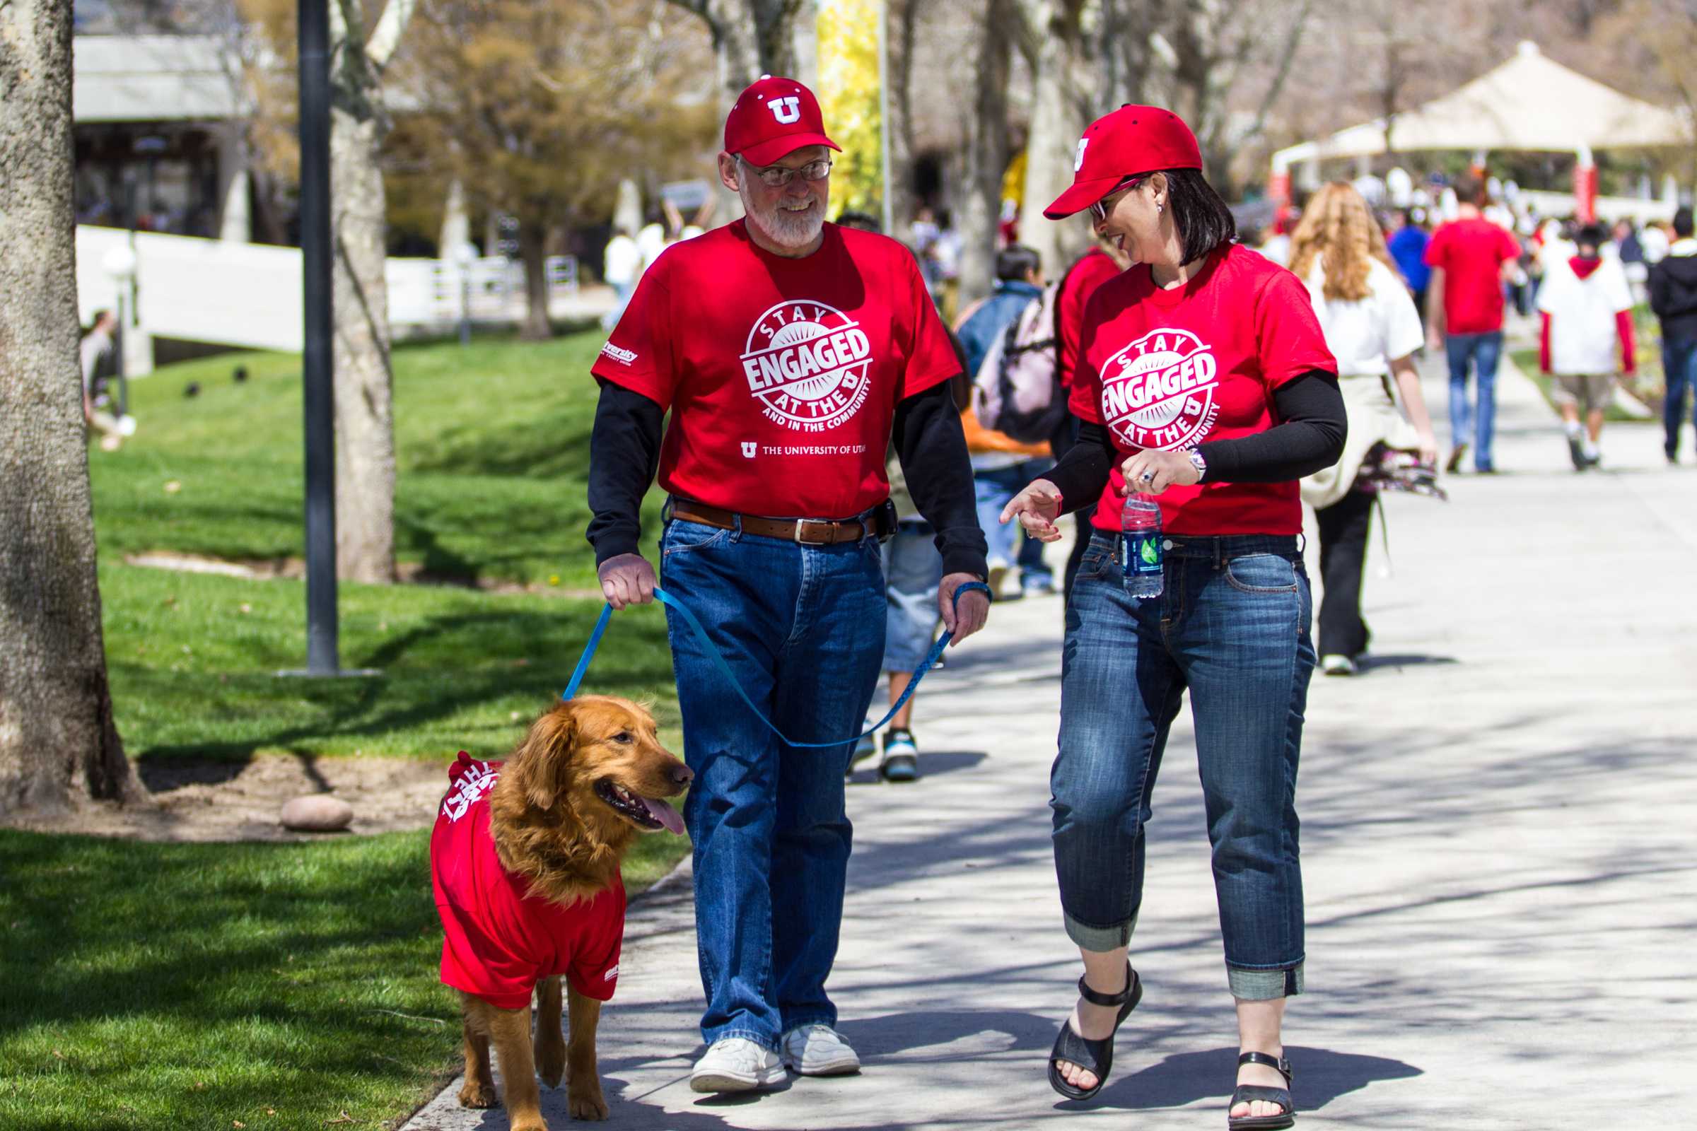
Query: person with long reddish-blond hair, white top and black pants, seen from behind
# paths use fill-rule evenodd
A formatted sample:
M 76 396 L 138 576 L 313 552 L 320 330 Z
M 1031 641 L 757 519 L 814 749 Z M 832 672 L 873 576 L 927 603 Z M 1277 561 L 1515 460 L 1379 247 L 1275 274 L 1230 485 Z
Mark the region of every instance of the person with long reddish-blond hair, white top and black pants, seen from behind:
M 1405 229 L 1407 231 L 1407 229 Z M 1347 181 L 1315 193 L 1291 236 L 1290 270 L 1308 287 L 1325 346 L 1337 358 L 1349 431 L 1344 456 L 1302 480 L 1302 499 L 1320 527 L 1320 670 L 1354 675 L 1368 649 L 1361 619 L 1361 575 L 1368 556 L 1375 490 L 1358 475 L 1375 453 L 1417 451 L 1437 463 L 1437 437 L 1425 415 L 1414 351 L 1420 348 L 1420 315 L 1392 270 L 1385 237 L 1368 202 Z M 1397 412 L 1388 376 L 1395 373 L 1409 419 Z M 1364 490 L 1363 490 L 1364 488 Z

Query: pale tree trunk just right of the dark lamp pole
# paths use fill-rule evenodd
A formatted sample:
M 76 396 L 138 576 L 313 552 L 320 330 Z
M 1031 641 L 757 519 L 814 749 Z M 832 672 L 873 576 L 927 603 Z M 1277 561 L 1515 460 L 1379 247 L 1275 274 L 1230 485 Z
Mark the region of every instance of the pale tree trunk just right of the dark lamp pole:
M 395 5 L 399 0 L 390 0 Z M 394 17 L 385 12 L 385 20 Z M 402 17 L 404 19 L 404 17 Z M 395 580 L 395 421 L 384 173 L 389 114 L 358 0 L 333 0 L 331 229 L 336 241 L 336 575 Z M 399 27 L 380 29 L 392 51 Z M 384 56 L 387 59 L 387 54 Z

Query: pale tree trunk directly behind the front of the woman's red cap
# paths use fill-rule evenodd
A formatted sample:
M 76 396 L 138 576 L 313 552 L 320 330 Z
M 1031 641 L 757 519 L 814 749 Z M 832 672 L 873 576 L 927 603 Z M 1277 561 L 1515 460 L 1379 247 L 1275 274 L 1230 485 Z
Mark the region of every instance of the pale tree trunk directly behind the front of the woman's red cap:
M 1044 259 L 1044 273 L 1061 278 L 1089 249 L 1088 217 L 1050 220 L 1044 209 L 1073 183 L 1073 154 L 1084 132 L 1079 15 L 1083 0 L 1018 0 L 1030 44 L 1032 129 L 1025 142 L 1025 207 L 1020 242 Z

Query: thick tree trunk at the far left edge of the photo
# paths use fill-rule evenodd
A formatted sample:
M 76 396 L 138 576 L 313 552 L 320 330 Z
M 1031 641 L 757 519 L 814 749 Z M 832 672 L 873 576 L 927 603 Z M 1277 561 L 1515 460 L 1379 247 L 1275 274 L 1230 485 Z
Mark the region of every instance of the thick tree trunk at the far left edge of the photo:
M 139 799 L 112 722 L 76 359 L 71 5 L 0 5 L 0 812 Z

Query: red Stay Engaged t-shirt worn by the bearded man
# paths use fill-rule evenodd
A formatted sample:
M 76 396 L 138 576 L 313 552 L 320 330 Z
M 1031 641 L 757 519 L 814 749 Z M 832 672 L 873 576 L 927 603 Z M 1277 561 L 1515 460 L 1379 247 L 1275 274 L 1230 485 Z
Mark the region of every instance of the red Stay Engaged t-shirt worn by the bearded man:
M 743 224 L 667 248 L 591 371 L 672 410 L 674 495 L 777 519 L 871 510 L 896 402 L 961 371 L 918 263 L 835 224 L 786 259 Z

